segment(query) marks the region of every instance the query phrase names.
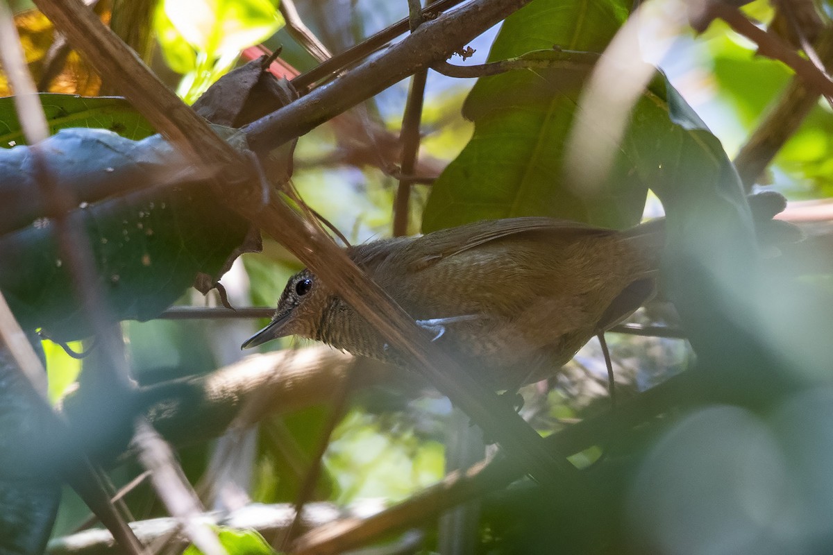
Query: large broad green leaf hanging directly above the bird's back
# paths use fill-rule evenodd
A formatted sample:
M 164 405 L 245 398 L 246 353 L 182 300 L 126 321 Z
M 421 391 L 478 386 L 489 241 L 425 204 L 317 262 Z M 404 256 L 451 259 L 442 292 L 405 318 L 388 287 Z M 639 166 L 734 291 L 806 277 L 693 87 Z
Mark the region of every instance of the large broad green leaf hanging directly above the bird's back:
M 601 52 L 627 15 L 628 2 L 539 0 L 504 22 L 490 61 L 558 45 Z M 628 3 L 628 5 L 630 5 Z M 559 17 L 551 17 L 558 12 Z M 540 53 L 539 53 L 540 56 Z M 570 131 L 586 62 L 572 69 L 507 72 L 478 80 L 464 113 L 475 122 L 471 141 L 431 188 L 424 231 L 469 221 L 542 215 L 599 225 L 636 223 L 647 184 L 632 171 L 640 161 L 628 142 L 611 180 L 587 196 L 562 179 L 562 149 Z M 642 104 L 636 107 L 637 115 Z

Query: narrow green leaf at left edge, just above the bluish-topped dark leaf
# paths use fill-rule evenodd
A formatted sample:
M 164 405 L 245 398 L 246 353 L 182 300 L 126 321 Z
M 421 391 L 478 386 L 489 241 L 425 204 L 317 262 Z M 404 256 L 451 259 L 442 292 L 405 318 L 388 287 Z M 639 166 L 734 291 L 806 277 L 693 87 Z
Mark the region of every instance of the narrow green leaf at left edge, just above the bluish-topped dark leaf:
M 68 127 L 97 127 L 138 141 L 155 132 L 144 116 L 122 97 L 79 97 L 53 93 L 38 96 L 52 133 Z M 14 98 L 0 98 L 0 146 L 25 144 Z

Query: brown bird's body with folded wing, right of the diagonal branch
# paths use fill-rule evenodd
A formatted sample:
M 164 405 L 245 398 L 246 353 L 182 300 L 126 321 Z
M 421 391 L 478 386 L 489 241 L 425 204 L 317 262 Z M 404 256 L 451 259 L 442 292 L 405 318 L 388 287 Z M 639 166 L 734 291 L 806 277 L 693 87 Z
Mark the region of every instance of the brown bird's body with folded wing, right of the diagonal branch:
M 644 298 L 621 309 L 616 300 L 650 280 L 656 256 L 643 252 L 640 235 L 511 218 L 358 245 L 351 256 L 416 320 L 475 316 L 447 325 L 440 340 L 502 381 L 506 371 L 554 371 L 606 325 L 603 317 L 636 310 Z

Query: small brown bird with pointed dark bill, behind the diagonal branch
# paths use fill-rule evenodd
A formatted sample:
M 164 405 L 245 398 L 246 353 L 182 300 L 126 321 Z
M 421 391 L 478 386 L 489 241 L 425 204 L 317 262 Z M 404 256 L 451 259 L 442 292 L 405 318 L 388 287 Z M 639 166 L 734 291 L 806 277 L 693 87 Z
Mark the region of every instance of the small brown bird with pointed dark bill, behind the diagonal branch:
M 511 389 L 554 373 L 651 297 L 663 224 L 617 231 L 511 218 L 377 240 L 347 254 L 472 373 Z M 272 322 L 242 348 L 293 334 L 402 364 L 310 270 L 290 278 Z

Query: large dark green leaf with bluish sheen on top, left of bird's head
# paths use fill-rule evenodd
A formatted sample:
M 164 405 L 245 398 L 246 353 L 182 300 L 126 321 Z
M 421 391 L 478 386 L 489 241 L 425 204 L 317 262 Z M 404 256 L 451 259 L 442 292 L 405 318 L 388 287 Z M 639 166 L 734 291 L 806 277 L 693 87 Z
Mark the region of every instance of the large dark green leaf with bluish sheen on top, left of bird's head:
M 18 198 L 37 191 L 31 161 L 22 163 L 27 148 L 0 151 L 0 182 L 17 186 Z M 204 183 L 177 181 L 179 158 L 159 136 L 133 142 L 108 131 L 63 130 L 42 148 L 51 175 L 73 191 L 97 178 L 101 186 L 117 180 L 128 190 L 167 186 L 71 214 L 90 240 L 98 285 L 118 320 L 156 316 L 193 284 L 197 272 L 218 279 L 244 242 L 248 222 Z M 3 196 L 9 198 L 5 191 Z M 53 234 L 51 221 L 36 221 L 0 237 L 0 288 L 25 329 L 40 326 L 57 339 L 79 339 L 89 330 Z

